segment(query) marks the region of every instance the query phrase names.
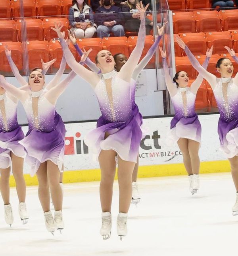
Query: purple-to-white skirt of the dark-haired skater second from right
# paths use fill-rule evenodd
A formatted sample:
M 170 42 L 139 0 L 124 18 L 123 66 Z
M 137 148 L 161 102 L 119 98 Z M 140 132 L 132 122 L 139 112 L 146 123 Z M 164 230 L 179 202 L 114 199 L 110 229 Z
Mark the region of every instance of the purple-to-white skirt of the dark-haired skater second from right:
M 175 116 L 171 120 L 167 144 L 172 146 L 180 138 L 191 139 L 201 143 L 201 133 L 202 127 L 197 114 L 193 117 L 182 117 L 181 119 L 177 119 Z

